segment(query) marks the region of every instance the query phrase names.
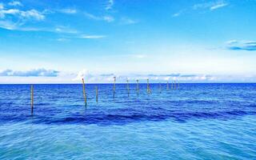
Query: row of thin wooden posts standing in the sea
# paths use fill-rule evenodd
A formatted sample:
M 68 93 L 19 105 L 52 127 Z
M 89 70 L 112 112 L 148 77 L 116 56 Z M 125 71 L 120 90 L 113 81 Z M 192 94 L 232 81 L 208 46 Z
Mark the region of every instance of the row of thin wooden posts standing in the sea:
M 136 80 L 137 86 L 136 86 L 136 91 L 137 94 L 139 92 L 138 88 L 138 80 Z M 113 84 L 113 97 L 115 96 L 115 83 L 116 83 L 116 77 L 114 77 L 114 84 Z M 96 89 L 96 102 L 98 102 L 98 86 L 95 87 Z M 169 90 L 169 82 L 166 84 L 166 89 Z M 171 90 L 177 90 L 179 89 L 179 82 L 178 84 L 174 80 L 174 82 L 171 83 Z M 159 91 L 160 93 L 162 92 L 162 86 L 161 83 L 159 83 Z M 146 92 L 147 94 L 152 94 L 152 90 L 150 89 L 150 80 L 149 78 L 146 79 Z M 87 106 L 87 96 L 86 96 L 86 86 L 85 86 L 85 81 L 82 78 L 82 94 L 83 98 L 85 100 L 85 106 Z M 127 79 L 127 94 L 129 96 L 130 94 L 130 86 L 129 86 L 129 80 Z M 30 87 L 30 97 L 31 97 L 31 114 L 33 114 L 34 111 L 34 85 L 31 85 Z

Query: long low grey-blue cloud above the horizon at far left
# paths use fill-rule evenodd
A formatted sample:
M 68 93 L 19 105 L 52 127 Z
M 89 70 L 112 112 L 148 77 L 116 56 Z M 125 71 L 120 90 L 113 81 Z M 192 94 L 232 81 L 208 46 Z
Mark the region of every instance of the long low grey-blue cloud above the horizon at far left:
M 18 76 L 18 77 L 57 77 L 58 70 L 35 69 L 26 71 L 3 70 L 0 76 Z

